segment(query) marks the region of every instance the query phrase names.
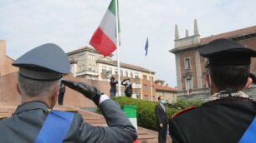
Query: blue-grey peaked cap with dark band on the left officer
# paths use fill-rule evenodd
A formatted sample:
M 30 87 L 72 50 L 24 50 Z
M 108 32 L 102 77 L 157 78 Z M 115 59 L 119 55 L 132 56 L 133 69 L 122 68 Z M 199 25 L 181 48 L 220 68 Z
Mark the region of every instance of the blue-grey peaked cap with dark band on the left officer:
M 19 67 L 19 75 L 39 81 L 58 80 L 70 72 L 66 53 L 52 43 L 33 48 L 14 61 L 13 66 Z

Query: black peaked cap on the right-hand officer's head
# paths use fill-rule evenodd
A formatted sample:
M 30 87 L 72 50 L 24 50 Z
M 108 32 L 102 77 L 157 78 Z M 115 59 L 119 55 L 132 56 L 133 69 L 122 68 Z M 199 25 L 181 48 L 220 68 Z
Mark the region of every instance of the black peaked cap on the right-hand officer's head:
M 210 65 L 249 65 L 256 51 L 231 39 L 217 39 L 199 49 Z

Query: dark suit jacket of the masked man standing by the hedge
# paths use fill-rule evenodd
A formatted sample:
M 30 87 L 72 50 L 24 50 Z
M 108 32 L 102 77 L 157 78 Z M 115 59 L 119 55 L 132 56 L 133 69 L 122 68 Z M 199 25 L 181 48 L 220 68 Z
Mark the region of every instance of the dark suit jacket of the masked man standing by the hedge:
M 157 106 L 155 107 L 155 112 L 156 112 L 157 126 L 160 126 L 160 124 L 163 124 L 164 126 L 167 125 L 168 123 L 167 114 L 160 104 L 157 104 Z

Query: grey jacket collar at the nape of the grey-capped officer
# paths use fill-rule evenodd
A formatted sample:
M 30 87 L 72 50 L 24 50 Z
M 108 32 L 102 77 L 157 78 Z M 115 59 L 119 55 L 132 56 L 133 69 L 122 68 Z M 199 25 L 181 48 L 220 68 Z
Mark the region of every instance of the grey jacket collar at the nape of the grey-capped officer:
M 28 101 L 18 106 L 14 114 L 19 114 L 23 111 L 30 111 L 30 110 L 36 110 L 36 109 L 41 109 L 45 112 L 49 111 L 49 107 L 42 101 Z

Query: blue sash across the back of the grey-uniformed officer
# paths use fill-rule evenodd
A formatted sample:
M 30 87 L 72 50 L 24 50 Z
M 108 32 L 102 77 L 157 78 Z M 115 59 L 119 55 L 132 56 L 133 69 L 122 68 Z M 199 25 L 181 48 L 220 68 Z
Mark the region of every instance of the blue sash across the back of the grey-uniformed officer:
M 73 118 L 72 112 L 50 111 L 34 143 L 61 143 Z

